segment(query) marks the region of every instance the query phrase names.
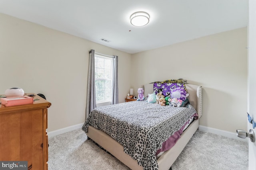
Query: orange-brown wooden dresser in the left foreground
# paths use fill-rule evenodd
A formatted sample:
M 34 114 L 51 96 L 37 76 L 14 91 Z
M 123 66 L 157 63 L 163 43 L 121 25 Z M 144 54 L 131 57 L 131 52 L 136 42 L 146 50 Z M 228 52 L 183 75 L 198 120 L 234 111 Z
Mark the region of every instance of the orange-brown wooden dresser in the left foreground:
M 28 161 L 28 170 L 48 170 L 46 129 L 51 103 L 34 95 L 39 99 L 34 104 L 0 104 L 0 161 Z

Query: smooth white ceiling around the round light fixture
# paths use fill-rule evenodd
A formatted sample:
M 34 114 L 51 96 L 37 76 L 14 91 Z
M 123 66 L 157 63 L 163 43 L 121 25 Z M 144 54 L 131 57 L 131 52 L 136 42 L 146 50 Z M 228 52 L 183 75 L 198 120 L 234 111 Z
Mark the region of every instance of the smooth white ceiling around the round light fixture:
M 130 24 L 138 11 L 148 25 Z M 137 53 L 246 27 L 248 0 L 0 0 L 0 13 Z

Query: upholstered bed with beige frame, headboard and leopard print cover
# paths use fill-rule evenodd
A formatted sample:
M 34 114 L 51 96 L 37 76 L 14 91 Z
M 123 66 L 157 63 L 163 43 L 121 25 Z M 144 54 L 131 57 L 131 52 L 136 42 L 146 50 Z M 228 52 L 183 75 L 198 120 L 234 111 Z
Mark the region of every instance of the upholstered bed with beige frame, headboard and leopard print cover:
M 135 102 L 116 104 L 116 105 L 107 106 L 107 107 L 104 106 L 98 109 L 96 108 L 96 111 L 94 111 L 95 113 L 92 113 L 93 112 L 92 111 L 89 115 L 89 117 L 91 116 L 90 117 L 91 122 L 88 123 L 88 121 L 86 121 L 82 129 L 86 132 L 88 139 L 92 139 L 94 142 L 96 142 L 98 145 L 100 145 L 105 150 L 110 152 L 113 156 L 115 156 L 118 160 L 123 162 L 126 166 L 128 166 L 132 170 L 142 170 L 142 169 L 169 170 L 172 164 L 174 163 L 174 161 L 176 160 L 176 158 L 179 156 L 179 154 L 182 152 L 182 150 L 184 149 L 184 147 L 192 137 L 192 135 L 198 129 L 199 118 L 202 115 L 202 87 L 193 85 L 193 84 L 185 84 L 185 85 L 186 85 L 186 90 L 189 94 L 188 100 L 190 102 L 190 106 L 192 107 L 191 108 L 190 106 L 187 106 L 187 108 L 191 109 L 192 112 L 190 113 L 189 111 L 189 113 L 185 114 L 183 113 L 184 109 L 182 107 L 179 107 L 179 108 L 176 107 L 175 109 L 181 109 L 182 111 L 181 110 L 178 111 L 177 113 L 172 115 L 172 117 L 178 117 L 179 114 L 180 115 L 183 114 L 183 115 L 186 115 L 186 121 L 185 121 L 185 118 L 182 118 L 182 119 L 177 118 L 176 123 L 178 125 L 174 125 L 174 127 L 171 127 L 170 124 L 173 124 L 173 123 L 170 123 L 170 119 L 172 119 L 172 121 L 175 119 L 167 118 L 168 115 L 165 114 L 165 110 L 164 110 L 164 109 L 171 108 L 171 106 L 160 106 L 159 104 L 150 105 L 148 104 L 148 102 L 135 101 Z M 144 94 L 151 94 L 153 93 L 153 90 L 154 90 L 153 84 L 144 85 Z M 129 107 L 130 111 L 132 112 L 133 111 L 132 109 L 134 108 L 138 109 L 137 108 L 138 104 L 143 105 L 142 108 L 144 108 L 144 110 L 146 111 L 154 110 L 153 111 L 154 113 L 152 113 L 152 115 L 148 115 L 148 117 L 150 118 L 148 119 L 149 120 L 148 124 L 146 124 L 144 121 L 142 123 L 146 127 L 145 129 L 147 129 L 145 135 L 143 133 L 145 129 L 143 129 L 142 131 L 135 125 L 129 125 L 129 127 L 128 125 L 125 125 L 125 128 L 124 128 L 125 130 L 123 129 L 122 131 L 118 129 L 120 126 L 122 126 L 120 123 L 127 124 L 127 121 L 122 120 L 122 117 L 127 117 L 129 115 L 127 114 L 127 110 L 125 109 L 124 109 L 124 112 L 126 113 L 124 114 L 121 113 L 122 109 L 120 109 L 120 107 L 124 107 L 124 106 Z M 166 116 L 166 118 L 160 118 L 156 116 L 156 113 L 160 114 L 160 111 L 156 111 L 154 109 L 156 105 L 157 107 L 160 108 L 161 113 L 163 113 L 162 115 Z M 114 109 L 114 107 L 116 107 L 116 109 Z M 101 111 L 109 110 L 110 115 L 107 115 L 107 116 L 100 115 L 99 116 L 101 117 L 100 119 L 98 117 L 95 118 L 96 116 L 98 116 L 97 114 L 98 112 L 100 112 L 100 110 Z M 141 111 L 139 112 L 142 113 Z M 187 110 L 185 112 L 187 112 Z M 161 152 L 160 156 L 152 154 L 152 153 L 156 154 L 157 150 L 159 150 L 160 147 L 162 147 L 162 144 L 164 143 L 164 141 L 168 139 L 167 136 L 174 135 L 176 131 L 178 131 L 181 127 L 184 127 L 187 120 L 191 118 L 195 113 L 197 113 L 198 119 L 194 119 L 192 123 L 190 123 L 190 125 L 186 128 L 185 131 L 183 131 L 178 141 L 173 147 L 171 147 L 171 149 Z M 143 114 L 144 113 L 138 114 L 138 116 L 132 116 L 130 117 L 130 119 L 132 121 L 133 119 L 135 119 L 134 117 L 136 117 L 136 120 L 140 119 L 140 117 L 144 117 Z M 151 113 L 147 113 L 147 114 L 151 114 Z M 112 119 L 112 118 L 110 119 L 109 117 L 111 117 L 112 115 L 113 116 L 117 115 L 117 117 L 115 119 Z M 105 119 L 105 120 L 101 121 L 101 119 Z M 117 119 L 120 121 L 117 121 Z M 92 122 L 92 120 L 94 120 L 94 123 Z M 157 125 L 151 126 L 150 120 L 156 121 Z M 97 123 L 99 125 L 97 125 Z M 137 124 L 140 124 L 140 123 L 137 123 Z M 169 129 L 167 127 L 163 127 L 163 125 L 166 125 L 166 124 L 168 124 L 168 128 L 170 127 Z M 110 125 L 114 125 L 114 127 Z M 138 126 L 141 127 L 140 125 Z M 131 129 L 132 129 L 132 132 L 131 132 Z M 168 131 L 164 133 L 159 132 L 159 131 L 163 132 L 164 129 L 168 129 Z M 110 133 L 110 131 L 115 131 L 115 132 Z M 134 131 L 136 131 L 136 133 Z M 136 139 L 136 137 L 138 137 L 138 134 L 142 136 L 140 140 Z M 148 134 L 151 134 L 151 135 L 148 135 Z M 129 140 L 127 141 L 126 139 L 129 139 Z M 139 149 L 136 148 L 138 147 L 138 145 L 140 146 Z M 152 148 L 150 148 L 151 146 Z

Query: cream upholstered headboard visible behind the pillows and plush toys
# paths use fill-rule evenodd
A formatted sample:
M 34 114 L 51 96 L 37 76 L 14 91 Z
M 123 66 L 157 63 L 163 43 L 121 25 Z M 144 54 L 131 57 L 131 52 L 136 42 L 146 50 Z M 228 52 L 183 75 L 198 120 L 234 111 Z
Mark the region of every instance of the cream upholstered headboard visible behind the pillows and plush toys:
M 144 96 L 153 93 L 153 83 L 144 85 Z M 202 116 L 202 86 L 194 84 L 185 84 L 188 90 L 188 100 L 190 104 L 196 109 L 198 116 Z

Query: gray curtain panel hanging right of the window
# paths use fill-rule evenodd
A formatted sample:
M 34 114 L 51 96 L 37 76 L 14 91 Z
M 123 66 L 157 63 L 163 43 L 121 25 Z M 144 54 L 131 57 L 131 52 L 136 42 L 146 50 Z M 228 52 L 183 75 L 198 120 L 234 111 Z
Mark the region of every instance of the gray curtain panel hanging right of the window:
M 118 56 L 113 58 L 112 104 L 118 104 Z

